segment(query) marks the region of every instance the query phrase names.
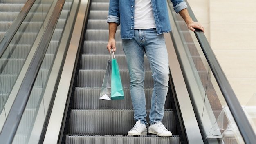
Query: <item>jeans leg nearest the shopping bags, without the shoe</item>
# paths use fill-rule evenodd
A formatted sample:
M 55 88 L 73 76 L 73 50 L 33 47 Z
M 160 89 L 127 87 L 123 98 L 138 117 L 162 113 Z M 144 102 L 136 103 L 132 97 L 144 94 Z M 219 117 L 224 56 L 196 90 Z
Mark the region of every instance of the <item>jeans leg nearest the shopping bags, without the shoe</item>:
M 135 30 L 136 33 L 136 30 Z M 138 43 L 138 35 L 134 39 L 122 40 L 126 61 L 130 74 L 130 93 L 134 109 L 134 120 L 148 125 L 146 121 L 146 98 L 144 93 L 144 48 Z

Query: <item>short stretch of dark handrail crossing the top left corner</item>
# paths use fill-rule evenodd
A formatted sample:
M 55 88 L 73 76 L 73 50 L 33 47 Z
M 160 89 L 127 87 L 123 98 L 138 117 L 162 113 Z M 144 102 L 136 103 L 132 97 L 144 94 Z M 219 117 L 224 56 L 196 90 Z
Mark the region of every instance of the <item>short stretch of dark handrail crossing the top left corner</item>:
M 0 58 L 4 54 L 4 51 L 7 49 L 7 47 L 9 46 L 11 40 L 13 39 L 14 35 L 18 31 L 18 29 L 20 28 L 20 25 L 22 24 L 22 22 L 26 18 L 27 14 L 29 13 L 29 10 L 31 9 L 31 7 L 33 6 L 35 1 L 36 0 L 28 0 L 24 4 L 24 6 L 22 7 L 18 16 L 12 22 L 11 26 L 6 31 L 6 33 L 4 34 L 4 37 L 0 41 Z

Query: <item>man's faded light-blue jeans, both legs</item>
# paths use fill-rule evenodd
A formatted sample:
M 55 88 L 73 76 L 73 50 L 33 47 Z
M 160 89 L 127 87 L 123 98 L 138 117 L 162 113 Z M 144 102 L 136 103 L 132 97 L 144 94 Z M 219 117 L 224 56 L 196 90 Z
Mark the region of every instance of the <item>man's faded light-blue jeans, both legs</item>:
M 149 113 L 150 124 L 161 122 L 168 92 L 169 64 L 164 35 L 156 29 L 135 30 L 134 39 L 123 39 L 123 49 L 130 74 L 130 93 L 134 109 L 134 120 L 146 121 L 146 98 L 144 93 L 144 53 L 148 58 L 154 79 L 154 88 Z

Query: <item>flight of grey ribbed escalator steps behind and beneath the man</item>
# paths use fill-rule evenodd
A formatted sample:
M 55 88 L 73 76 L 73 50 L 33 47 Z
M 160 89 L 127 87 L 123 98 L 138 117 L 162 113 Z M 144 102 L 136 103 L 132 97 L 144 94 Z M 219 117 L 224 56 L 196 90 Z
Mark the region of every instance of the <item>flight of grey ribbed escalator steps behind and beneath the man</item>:
M 109 53 L 108 42 L 108 0 L 92 0 L 85 31 L 84 46 L 81 49 L 81 60 L 78 69 L 74 102 L 70 112 L 69 129 L 66 144 L 97 144 L 107 140 L 113 144 L 179 144 L 174 112 L 168 95 L 163 124 L 173 132 L 172 137 L 165 139 L 156 135 L 129 137 L 127 132 L 132 129 L 133 108 L 130 98 L 130 76 L 124 51 L 122 50 L 120 27 L 116 33 L 117 51 L 115 58 L 119 64 L 125 100 L 99 100 L 103 76 L 106 70 Z M 153 78 L 150 65 L 145 56 L 145 81 L 147 113 L 150 110 L 153 91 Z M 148 121 L 148 117 L 146 118 Z M 79 142 L 77 142 L 79 140 Z

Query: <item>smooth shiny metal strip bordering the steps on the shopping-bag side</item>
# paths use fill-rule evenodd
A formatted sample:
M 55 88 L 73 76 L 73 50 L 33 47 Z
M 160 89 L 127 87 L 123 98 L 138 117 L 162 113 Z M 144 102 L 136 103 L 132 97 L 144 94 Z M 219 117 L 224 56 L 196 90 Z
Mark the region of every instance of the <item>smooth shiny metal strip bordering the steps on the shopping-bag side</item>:
M 74 3 L 79 4 L 79 0 L 74 0 Z M 72 84 L 73 81 L 72 74 L 74 73 L 74 67 L 76 67 L 76 56 L 80 49 L 79 42 L 81 35 L 83 35 L 83 24 L 86 20 L 88 5 L 88 0 L 80 1 L 74 30 L 61 74 L 62 76 L 59 80 L 59 89 L 56 91 L 56 97 L 43 144 L 58 144 L 58 140 L 62 137 L 62 122 L 66 117 L 66 114 L 63 112 L 65 112 L 66 104 L 70 101 L 68 93 L 70 92 L 70 84 Z

